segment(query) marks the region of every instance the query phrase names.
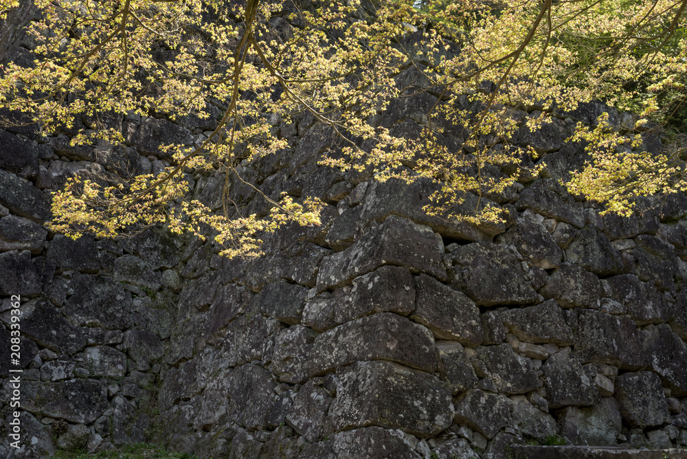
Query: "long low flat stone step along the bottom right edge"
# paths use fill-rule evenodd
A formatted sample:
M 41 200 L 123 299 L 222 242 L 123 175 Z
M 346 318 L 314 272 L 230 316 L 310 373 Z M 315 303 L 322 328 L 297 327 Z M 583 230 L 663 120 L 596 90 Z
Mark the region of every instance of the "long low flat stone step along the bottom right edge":
M 687 449 L 513 445 L 509 459 L 687 459 Z

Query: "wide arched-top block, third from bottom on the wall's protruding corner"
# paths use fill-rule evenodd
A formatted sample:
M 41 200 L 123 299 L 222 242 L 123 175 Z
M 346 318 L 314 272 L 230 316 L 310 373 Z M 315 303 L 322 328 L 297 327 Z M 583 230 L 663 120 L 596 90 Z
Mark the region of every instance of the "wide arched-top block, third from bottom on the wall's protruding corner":
M 434 339 L 427 328 L 393 313 L 379 313 L 339 325 L 315 339 L 311 374 L 324 374 L 355 361 L 390 360 L 436 371 Z

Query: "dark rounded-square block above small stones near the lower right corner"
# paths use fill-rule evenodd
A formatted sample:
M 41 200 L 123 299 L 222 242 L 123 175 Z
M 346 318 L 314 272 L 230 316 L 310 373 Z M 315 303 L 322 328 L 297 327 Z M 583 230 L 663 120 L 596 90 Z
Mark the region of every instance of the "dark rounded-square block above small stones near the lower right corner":
M 661 379 L 653 372 L 619 374 L 616 377 L 616 399 L 622 418 L 631 427 L 643 429 L 670 420 Z

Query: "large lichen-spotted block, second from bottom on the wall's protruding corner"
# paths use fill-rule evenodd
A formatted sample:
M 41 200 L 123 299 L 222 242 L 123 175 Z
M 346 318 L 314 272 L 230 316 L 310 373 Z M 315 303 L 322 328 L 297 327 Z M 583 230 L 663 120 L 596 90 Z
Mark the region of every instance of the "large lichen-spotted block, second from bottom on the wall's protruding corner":
M 387 361 L 365 361 L 337 372 L 330 407 L 339 430 L 378 425 L 420 437 L 451 425 L 451 392 L 437 377 Z

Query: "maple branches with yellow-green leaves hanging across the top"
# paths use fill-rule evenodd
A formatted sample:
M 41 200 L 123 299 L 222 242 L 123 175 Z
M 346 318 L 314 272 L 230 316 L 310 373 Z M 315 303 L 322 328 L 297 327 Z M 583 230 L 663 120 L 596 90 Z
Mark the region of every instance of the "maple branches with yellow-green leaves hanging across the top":
M 427 212 L 495 223 L 501 210 L 487 197 L 541 168 L 520 162 L 541 154 L 512 141 L 521 124 L 536 132 L 598 98 L 638 115 L 624 125 L 611 124 L 607 113 L 593 126 L 579 124 L 571 140 L 587 142 L 592 161 L 566 186 L 627 215 L 636 197 L 687 189 L 679 144 L 648 153 L 641 137 L 650 126 L 682 122 L 686 3 L 36 0 L 41 19 L 27 33 L 38 59 L 29 68 L 3 67 L 0 107 L 27 113 L 44 135 L 71 128 L 81 115 L 202 119 L 211 105 L 221 107 L 216 128 L 194 146 L 163 147 L 174 159 L 163 172 L 107 183 L 72 179 L 56 192 L 53 228 L 71 236 L 115 236 L 156 223 L 200 235 L 210 225 L 225 254 L 254 256 L 261 232 L 286 221 L 317 224 L 324 204 L 316 199 L 263 194 L 273 205 L 268 218 L 242 216 L 228 201 L 213 213 L 188 199 L 184 179 L 188 170 L 219 170 L 227 186 L 259 192 L 239 165 L 286 148 L 273 120 L 304 111 L 339 138 L 321 164 L 372 169 L 381 181 L 429 177 L 438 190 Z M 18 8 L 0 0 L 5 15 Z M 409 36 L 420 38 L 409 46 Z M 404 95 L 394 78 L 408 69 L 438 97 L 415 138 L 375 121 Z M 441 141 L 447 126 L 462 129 L 462 144 Z M 102 122 L 71 142 L 123 140 Z M 467 194 L 477 197 L 474 208 L 460 205 Z

